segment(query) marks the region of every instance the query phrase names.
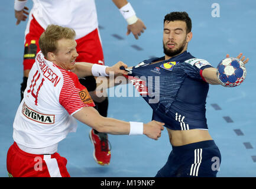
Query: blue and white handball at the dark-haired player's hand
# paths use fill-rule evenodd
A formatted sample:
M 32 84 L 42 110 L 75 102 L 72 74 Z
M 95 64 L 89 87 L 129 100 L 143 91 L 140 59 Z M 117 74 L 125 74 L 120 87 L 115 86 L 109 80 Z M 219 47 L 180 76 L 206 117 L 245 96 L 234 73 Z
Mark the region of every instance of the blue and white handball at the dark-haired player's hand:
M 246 76 L 244 63 L 238 58 L 225 58 L 217 67 L 217 77 L 226 87 L 235 87 L 241 84 Z

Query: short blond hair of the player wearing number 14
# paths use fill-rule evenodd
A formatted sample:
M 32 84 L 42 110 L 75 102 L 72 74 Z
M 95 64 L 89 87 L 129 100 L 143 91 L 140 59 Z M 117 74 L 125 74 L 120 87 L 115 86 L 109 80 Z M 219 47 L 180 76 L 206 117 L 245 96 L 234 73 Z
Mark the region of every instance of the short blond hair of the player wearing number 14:
M 57 53 L 57 41 L 63 38 L 73 40 L 74 37 L 76 32 L 72 28 L 50 24 L 41 34 L 38 43 L 44 57 L 47 58 L 48 53 Z

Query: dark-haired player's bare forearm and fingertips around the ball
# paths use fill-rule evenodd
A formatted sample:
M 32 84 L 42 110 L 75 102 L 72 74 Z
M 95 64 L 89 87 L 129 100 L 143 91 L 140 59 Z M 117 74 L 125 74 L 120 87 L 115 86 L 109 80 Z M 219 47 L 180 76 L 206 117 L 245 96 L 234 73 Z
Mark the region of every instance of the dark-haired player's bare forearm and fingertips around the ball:
M 229 54 L 226 54 L 226 58 L 229 58 Z M 244 64 L 248 63 L 249 61 L 249 58 L 245 59 L 245 56 L 242 57 L 242 53 L 239 53 L 239 55 L 236 58 L 241 60 Z M 217 73 L 218 73 L 218 69 L 210 67 L 210 68 L 204 69 L 202 74 L 206 82 L 208 82 L 209 84 L 221 84 L 217 76 Z

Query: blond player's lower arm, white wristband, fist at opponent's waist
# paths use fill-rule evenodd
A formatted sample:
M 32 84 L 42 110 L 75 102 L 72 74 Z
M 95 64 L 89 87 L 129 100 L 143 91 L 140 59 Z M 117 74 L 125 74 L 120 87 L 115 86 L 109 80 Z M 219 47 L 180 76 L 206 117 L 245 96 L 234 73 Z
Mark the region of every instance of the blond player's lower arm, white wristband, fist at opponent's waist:
M 157 140 L 161 136 L 164 123 L 155 120 L 149 123 L 125 122 L 114 118 L 105 118 L 99 115 L 93 107 L 83 107 L 74 113 L 74 118 L 82 123 L 96 129 L 98 132 L 110 133 L 112 135 L 146 135 Z

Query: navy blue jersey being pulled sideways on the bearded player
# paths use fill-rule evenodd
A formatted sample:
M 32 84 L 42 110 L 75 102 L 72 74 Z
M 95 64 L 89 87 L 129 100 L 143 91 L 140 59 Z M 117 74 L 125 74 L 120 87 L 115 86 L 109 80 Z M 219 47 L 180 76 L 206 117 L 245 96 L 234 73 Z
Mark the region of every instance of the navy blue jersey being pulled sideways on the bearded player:
M 208 129 L 205 105 L 209 84 L 202 76 L 208 67 L 212 67 L 208 61 L 185 51 L 169 60 L 144 60 L 132 67 L 128 76 L 137 76 L 132 83 L 136 86 L 140 81 L 147 89 L 139 92 L 153 109 L 153 120 L 173 130 Z

